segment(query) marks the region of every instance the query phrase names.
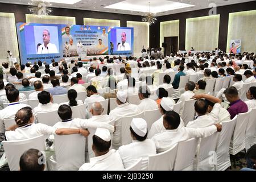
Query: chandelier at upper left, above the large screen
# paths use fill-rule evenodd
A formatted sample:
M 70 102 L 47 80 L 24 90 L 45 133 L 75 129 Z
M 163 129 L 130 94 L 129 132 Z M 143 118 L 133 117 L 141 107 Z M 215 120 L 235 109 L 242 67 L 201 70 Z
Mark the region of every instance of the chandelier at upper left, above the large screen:
M 43 15 L 49 15 L 52 12 L 52 9 L 47 6 L 52 6 L 51 3 L 47 1 L 34 1 L 28 3 L 28 5 L 34 7 L 28 7 L 28 10 L 31 14 L 38 15 L 38 17 L 42 17 Z

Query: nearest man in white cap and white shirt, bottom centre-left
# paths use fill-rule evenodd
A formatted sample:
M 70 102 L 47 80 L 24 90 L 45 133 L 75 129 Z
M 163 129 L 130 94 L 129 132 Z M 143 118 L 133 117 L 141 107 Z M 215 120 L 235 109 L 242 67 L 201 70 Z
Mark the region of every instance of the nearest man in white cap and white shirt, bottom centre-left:
M 90 158 L 89 163 L 83 164 L 79 171 L 119 171 L 123 170 L 122 159 L 119 153 L 112 149 L 109 130 L 98 128 L 93 135 L 92 150 L 95 158 Z

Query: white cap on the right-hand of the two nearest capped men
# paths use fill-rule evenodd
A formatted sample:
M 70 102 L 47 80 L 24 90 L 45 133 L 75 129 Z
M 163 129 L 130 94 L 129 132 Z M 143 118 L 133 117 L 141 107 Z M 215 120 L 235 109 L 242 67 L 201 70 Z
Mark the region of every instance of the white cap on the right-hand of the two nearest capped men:
M 131 128 L 140 137 L 144 137 L 147 133 L 147 122 L 142 118 L 133 118 Z

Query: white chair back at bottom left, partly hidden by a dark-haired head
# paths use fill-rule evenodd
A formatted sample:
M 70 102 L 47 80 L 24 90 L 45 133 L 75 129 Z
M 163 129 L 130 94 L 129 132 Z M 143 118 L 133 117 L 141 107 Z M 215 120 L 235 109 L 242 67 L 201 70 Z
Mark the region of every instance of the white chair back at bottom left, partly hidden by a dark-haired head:
M 40 135 L 38 137 L 24 139 L 24 140 L 15 140 L 15 141 L 2 141 L 3 148 L 5 149 L 5 154 L 7 162 L 11 171 L 19 170 L 19 159 L 24 151 L 35 148 L 41 152 L 44 152 L 45 137 Z

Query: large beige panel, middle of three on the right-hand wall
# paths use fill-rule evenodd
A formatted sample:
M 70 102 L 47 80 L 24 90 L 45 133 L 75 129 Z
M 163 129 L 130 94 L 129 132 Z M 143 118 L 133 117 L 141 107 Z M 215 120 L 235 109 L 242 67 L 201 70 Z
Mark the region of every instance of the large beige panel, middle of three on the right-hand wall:
M 212 51 L 218 47 L 220 15 L 201 16 L 186 20 L 185 49 Z

